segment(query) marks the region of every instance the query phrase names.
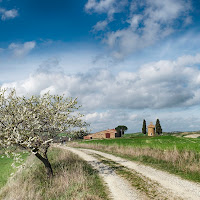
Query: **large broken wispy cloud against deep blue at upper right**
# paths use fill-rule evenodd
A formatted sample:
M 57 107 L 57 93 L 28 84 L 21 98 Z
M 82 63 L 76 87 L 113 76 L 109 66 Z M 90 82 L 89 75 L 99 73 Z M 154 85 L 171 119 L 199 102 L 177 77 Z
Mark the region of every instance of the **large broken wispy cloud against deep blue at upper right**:
M 117 0 L 89 0 L 85 5 L 87 12 L 107 13 L 107 19 L 94 26 L 96 31 L 104 30 L 105 22 L 107 26 L 110 18 L 113 21 L 114 14 L 121 12 L 123 20 L 115 21 L 121 23 L 122 28 L 105 32 L 103 38 L 104 43 L 113 50 L 113 56 L 119 59 L 153 45 L 192 21 L 189 16 L 191 5 L 187 0 L 134 0 L 123 1 L 123 5 L 120 7 L 127 6 L 129 9 L 119 9 Z

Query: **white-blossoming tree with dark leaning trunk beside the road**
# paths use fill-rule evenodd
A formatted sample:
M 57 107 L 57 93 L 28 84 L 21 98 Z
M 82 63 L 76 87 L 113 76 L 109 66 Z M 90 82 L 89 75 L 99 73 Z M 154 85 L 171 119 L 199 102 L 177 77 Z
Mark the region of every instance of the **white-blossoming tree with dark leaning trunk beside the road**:
M 86 131 L 86 123 L 77 112 L 77 100 L 50 95 L 19 97 L 15 89 L 0 88 L 0 148 L 18 146 L 40 159 L 48 177 L 53 175 L 47 151 L 53 138 L 70 131 L 77 135 Z

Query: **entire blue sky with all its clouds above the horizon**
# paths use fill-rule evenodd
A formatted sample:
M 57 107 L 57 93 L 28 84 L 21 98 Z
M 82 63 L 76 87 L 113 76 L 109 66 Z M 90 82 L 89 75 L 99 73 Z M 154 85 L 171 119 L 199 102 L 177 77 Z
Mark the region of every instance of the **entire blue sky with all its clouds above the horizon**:
M 0 86 L 78 97 L 93 132 L 200 130 L 200 1 L 0 0 Z

